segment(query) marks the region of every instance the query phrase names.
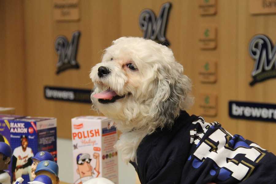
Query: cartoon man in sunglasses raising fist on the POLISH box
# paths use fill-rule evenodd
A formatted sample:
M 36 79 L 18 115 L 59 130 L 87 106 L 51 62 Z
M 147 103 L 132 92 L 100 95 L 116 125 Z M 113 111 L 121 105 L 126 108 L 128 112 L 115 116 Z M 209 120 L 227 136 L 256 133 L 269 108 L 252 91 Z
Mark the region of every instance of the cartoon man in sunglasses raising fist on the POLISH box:
M 92 159 L 90 159 L 90 155 L 88 153 L 79 154 L 77 156 L 77 173 L 80 178 L 74 182 L 74 184 L 82 184 L 91 178 L 97 178 L 100 174 L 100 154 L 94 153 L 93 158 L 96 159 L 96 167 L 90 165 Z

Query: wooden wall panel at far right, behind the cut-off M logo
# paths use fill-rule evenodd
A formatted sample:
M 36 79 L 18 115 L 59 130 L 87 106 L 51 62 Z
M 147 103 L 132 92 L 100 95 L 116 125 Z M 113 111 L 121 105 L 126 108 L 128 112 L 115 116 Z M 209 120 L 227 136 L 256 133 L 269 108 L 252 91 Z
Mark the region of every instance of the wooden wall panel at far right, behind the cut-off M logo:
M 248 53 L 248 44 L 251 38 L 256 34 L 266 34 L 273 42 L 276 40 L 276 21 L 275 15 L 257 15 L 249 14 L 249 1 L 239 2 L 239 20 L 238 20 L 238 60 L 239 67 L 233 71 L 238 75 L 237 92 L 239 100 L 251 102 L 264 102 L 276 104 L 274 92 L 276 90 L 275 79 L 269 79 L 254 86 L 249 86 L 251 82 L 251 72 L 253 70 L 253 59 Z M 273 43 L 275 44 L 275 42 Z M 275 123 L 264 123 L 259 121 L 238 121 L 238 133 L 245 138 L 258 143 L 261 147 L 276 153 Z

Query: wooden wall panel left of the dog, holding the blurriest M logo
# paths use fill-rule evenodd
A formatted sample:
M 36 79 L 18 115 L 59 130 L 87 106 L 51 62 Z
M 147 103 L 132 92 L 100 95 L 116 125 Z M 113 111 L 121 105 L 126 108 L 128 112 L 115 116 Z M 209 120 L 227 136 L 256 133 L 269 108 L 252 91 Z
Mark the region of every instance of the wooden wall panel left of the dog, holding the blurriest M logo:
M 102 50 L 119 37 L 118 1 L 80 1 L 80 21 L 54 21 L 52 1 L 25 1 L 27 68 L 27 112 L 33 116 L 57 117 L 58 136 L 71 139 L 71 118 L 98 115 L 90 104 L 44 99 L 44 86 L 74 87 L 91 90 L 92 66 L 100 61 Z M 71 40 L 79 30 L 77 61 L 80 69 L 56 75 L 58 56 L 54 49 L 57 36 Z

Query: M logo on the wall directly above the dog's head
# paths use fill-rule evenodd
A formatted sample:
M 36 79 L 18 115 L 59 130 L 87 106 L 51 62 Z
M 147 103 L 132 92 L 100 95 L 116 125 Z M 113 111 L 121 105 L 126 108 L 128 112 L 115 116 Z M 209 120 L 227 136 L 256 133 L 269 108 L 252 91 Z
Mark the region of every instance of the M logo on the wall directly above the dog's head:
M 149 9 L 145 9 L 140 13 L 139 25 L 144 31 L 144 38 L 156 40 L 166 46 L 170 45 L 165 37 L 170 9 L 171 3 L 167 2 L 161 6 L 159 15 L 156 18 L 153 11 Z

